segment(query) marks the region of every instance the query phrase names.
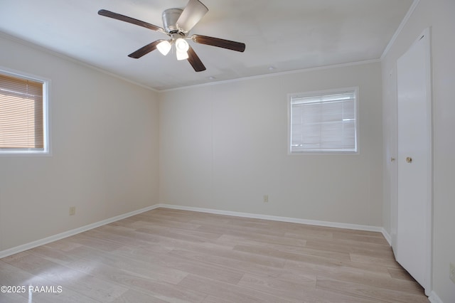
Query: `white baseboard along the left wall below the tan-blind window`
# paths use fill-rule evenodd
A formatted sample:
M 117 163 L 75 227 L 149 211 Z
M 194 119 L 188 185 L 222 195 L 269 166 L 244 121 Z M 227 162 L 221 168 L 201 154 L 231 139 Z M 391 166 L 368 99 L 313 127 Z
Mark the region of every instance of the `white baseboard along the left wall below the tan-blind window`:
M 41 240 L 36 240 L 36 241 L 30 242 L 30 243 L 19 245 L 19 246 L 16 246 L 15 248 L 9 248 L 7 250 L 1 250 L 0 251 L 0 259 L 2 257 L 8 257 L 9 255 L 14 255 L 14 254 L 16 254 L 18 252 L 23 252 L 25 250 L 30 250 L 31 248 L 36 248 L 37 246 L 45 245 L 45 244 L 54 242 L 56 240 L 60 240 L 60 239 L 63 239 L 63 238 L 68 238 L 68 237 L 70 237 L 72 235 L 77 235 L 78 233 L 83 233 L 83 232 L 85 232 L 87 230 L 91 230 L 93 228 L 97 228 L 97 227 L 100 227 L 102 225 L 106 225 L 106 224 L 109 224 L 109 223 L 112 223 L 112 222 L 115 222 L 115 221 L 118 221 L 118 220 L 122 220 L 124 218 L 135 216 L 135 215 L 138 215 L 139 213 L 144 213 L 145 211 L 151 211 L 151 210 L 153 210 L 155 208 L 159 208 L 159 207 L 160 207 L 159 204 L 156 204 L 154 206 L 148 206 L 146 208 L 141 208 L 141 209 L 139 209 L 137 211 L 124 213 L 122 215 L 115 216 L 115 217 L 112 217 L 112 218 L 109 218 L 109 219 L 106 219 L 106 220 L 101 220 L 99 222 L 95 222 L 95 223 L 92 223 L 92 224 L 89 224 L 89 225 L 85 225 L 85 226 L 82 226 L 80 228 L 75 228 L 73 230 L 68 230 L 68 231 L 65 231 L 64 233 L 59 233 L 57 235 L 51 235 L 50 237 L 43 238 Z

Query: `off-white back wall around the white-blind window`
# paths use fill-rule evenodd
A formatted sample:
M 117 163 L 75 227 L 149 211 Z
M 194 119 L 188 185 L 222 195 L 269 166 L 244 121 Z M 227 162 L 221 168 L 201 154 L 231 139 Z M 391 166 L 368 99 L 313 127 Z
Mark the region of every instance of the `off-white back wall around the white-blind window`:
M 353 86 L 360 154 L 289 156 L 287 94 Z M 161 203 L 382 226 L 381 87 L 368 63 L 162 92 Z

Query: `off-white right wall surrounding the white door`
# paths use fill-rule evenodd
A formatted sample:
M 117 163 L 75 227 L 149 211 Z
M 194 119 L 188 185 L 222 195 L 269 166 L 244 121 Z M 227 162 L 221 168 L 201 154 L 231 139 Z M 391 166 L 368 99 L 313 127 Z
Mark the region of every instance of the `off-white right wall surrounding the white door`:
M 384 91 L 384 218 L 385 228 L 394 233 L 396 198 L 390 180 L 394 179 L 387 156 L 396 154 L 396 62 L 431 26 L 433 89 L 433 289 L 446 303 L 455 300 L 455 285 L 449 280 L 449 263 L 455 264 L 455 1 L 420 0 L 382 62 Z M 390 77 L 390 72 L 392 76 Z

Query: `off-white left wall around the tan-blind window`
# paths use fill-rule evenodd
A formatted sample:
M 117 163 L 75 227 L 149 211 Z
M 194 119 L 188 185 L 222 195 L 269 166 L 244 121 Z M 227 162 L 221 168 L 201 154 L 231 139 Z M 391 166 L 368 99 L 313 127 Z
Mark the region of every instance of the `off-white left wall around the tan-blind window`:
M 4 36 L 0 67 L 51 80 L 52 139 L 0 156 L 0 251 L 158 202 L 156 92 Z

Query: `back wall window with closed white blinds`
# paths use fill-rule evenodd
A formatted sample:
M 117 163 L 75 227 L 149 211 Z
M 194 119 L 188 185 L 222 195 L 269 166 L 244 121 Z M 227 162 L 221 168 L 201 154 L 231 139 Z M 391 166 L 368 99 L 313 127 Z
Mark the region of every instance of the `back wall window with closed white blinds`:
M 290 153 L 356 153 L 357 91 L 289 95 Z

